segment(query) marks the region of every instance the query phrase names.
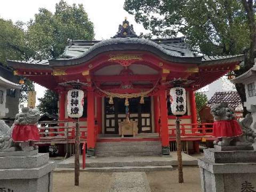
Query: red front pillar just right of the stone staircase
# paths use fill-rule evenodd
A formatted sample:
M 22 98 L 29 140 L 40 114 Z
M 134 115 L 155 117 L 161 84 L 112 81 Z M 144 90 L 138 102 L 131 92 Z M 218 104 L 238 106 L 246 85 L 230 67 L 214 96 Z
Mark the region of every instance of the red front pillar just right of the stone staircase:
M 166 90 L 160 90 L 161 139 L 162 147 L 169 147 Z M 169 149 L 170 150 L 170 149 Z

